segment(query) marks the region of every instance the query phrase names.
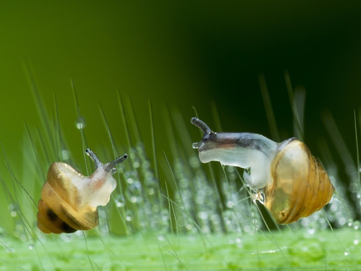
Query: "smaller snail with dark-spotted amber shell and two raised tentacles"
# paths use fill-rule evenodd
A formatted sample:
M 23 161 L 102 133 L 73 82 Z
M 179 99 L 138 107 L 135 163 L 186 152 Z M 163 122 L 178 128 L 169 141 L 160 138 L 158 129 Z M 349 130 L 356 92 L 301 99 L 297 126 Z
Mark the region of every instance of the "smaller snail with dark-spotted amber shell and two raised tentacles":
M 86 231 L 99 223 L 97 206 L 109 202 L 117 182 L 112 175 L 115 166 L 127 154 L 102 164 L 90 149 L 86 149 L 95 164 L 94 173 L 87 177 L 69 164 L 51 164 L 38 203 L 38 228 L 44 233 Z

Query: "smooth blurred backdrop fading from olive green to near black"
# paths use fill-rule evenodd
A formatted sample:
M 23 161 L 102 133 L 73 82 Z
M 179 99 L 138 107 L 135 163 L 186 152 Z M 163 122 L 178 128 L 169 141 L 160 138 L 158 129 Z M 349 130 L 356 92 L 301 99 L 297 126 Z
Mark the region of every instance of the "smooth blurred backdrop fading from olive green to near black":
M 70 78 L 93 149 L 111 152 L 101 104 L 117 145 L 126 151 L 118 90 L 133 103 L 148 151 L 149 99 L 158 152 L 169 151 L 168 108 L 180 110 L 198 141 L 199 130 L 189 122 L 192 106 L 216 130 L 212 102 L 223 130 L 271 137 L 260 72 L 283 140 L 293 136 L 283 74 L 288 70 L 292 85 L 306 90 L 305 141 L 314 155 L 317 141 L 330 140 L 321 120 L 330 111 L 356 157 L 360 14 L 360 1 L 1 1 L 1 141 L 9 160 L 21 167 L 24 121 L 43 129 L 25 67 L 49 114 L 56 94 L 61 127 L 78 159 L 82 146 Z

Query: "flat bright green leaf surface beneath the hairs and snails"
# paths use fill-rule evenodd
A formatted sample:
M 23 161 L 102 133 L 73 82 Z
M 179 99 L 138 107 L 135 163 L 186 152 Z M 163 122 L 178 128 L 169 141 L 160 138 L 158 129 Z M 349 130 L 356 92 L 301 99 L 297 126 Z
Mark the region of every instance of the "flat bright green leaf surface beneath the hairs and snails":
M 82 235 L 49 236 L 32 245 L 7 240 L 0 270 L 360 270 L 360 229 L 344 227 L 335 235 L 301 229 L 273 237 L 258 232 L 257 240 L 248 234 L 162 233 L 87 237 L 87 243 Z

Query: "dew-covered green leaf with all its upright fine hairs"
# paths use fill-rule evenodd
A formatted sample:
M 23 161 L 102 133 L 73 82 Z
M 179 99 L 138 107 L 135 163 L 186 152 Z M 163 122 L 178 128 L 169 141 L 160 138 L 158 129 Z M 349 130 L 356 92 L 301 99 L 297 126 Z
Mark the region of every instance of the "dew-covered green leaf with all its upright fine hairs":
M 289 79 L 289 78 L 288 78 Z M 287 76 L 286 76 L 287 81 Z M 71 235 L 45 235 L 36 227 L 36 203 L 49 165 L 54 160 L 69 163 L 90 174 L 92 162 L 85 154 L 75 161 L 64 134 L 54 96 L 48 113 L 35 83 L 29 77 L 41 128 L 25 125 L 23 166 L 17 168 L 4 153 L 1 171 L 3 206 L 0 210 L 0 264 L 4 270 L 358 270 L 361 267 L 359 174 L 347 154 L 331 115 L 323 120 L 336 148 L 348 165 L 351 196 L 339 182 L 339 168 L 322 146 L 321 161 L 334 184 L 333 198 L 323 211 L 291 225 L 277 225 L 244 185 L 242 169 L 217 163 L 202 165 L 184 117 L 177 109 L 163 114 L 170 152 L 158 155 L 152 105 L 149 122 L 152 152 L 146 151 L 131 100 L 118 93 L 119 123 L 124 142 L 114 138 L 106 112 L 99 106 L 110 149 L 93 149 L 102 161 L 129 154 L 114 175 L 118 181 L 110 202 L 99 208 L 95 230 Z M 290 82 L 288 82 L 289 87 Z M 74 104 L 82 148 L 88 147 L 84 119 L 74 83 Z M 267 98 L 264 80 L 260 86 Z M 290 90 L 289 90 L 290 91 Z M 290 99 L 301 94 L 291 91 Z M 302 96 L 302 95 L 301 95 Z M 266 112 L 277 131 L 269 102 Z M 294 126 L 303 135 L 302 103 L 292 106 Z M 215 105 L 216 126 L 221 126 Z M 196 114 L 196 113 L 195 113 Z M 112 117 L 112 116 L 110 116 Z M 356 120 L 356 118 L 355 118 Z M 356 125 L 355 121 L 355 125 Z M 356 125 L 357 126 L 357 125 Z M 217 128 L 217 129 L 218 129 Z M 356 127 L 357 128 L 357 127 Z M 196 129 L 196 128 L 195 128 Z M 275 133 L 275 132 L 274 132 Z M 29 181 L 33 180 L 33 181 Z M 330 225 L 335 231 L 330 231 Z

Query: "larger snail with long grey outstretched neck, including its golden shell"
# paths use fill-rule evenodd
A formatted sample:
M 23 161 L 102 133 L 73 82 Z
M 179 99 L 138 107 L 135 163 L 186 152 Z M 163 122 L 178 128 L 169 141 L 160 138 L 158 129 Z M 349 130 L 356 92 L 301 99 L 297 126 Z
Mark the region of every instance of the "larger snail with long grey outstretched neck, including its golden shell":
M 216 133 L 200 119 L 204 136 L 192 144 L 202 163 L 218 161 L 244 168 L 243 177 L 278 224 L 293 223 L 329 203 L 335 189 L 327 172 L 297 138 L 281 143 L 254 133 Z

